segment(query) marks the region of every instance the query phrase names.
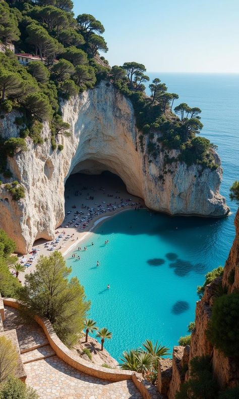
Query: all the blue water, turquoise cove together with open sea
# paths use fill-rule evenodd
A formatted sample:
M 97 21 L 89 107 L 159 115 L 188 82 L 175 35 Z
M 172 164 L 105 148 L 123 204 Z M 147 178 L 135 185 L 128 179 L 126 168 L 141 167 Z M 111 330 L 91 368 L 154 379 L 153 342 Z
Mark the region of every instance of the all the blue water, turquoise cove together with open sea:
M 115 358 L 146 338 L 172 348 L 187 333 L 197 286 L 209 270 L 224 265 L 234 238 L 236 205 L 228 190 L 239 176 L 239 75 L 153 76 L 180 94 L 180 102 L 202 109 L 202 135 L 218 145 L 221 193 L 232 215 L 215 220 L 126 211 L 95 230 L 84 243 L 88 250 L 81 252 L 81 261 L 67 260 L 91 300 L 90 317 L 113 332 L 105 347 Z

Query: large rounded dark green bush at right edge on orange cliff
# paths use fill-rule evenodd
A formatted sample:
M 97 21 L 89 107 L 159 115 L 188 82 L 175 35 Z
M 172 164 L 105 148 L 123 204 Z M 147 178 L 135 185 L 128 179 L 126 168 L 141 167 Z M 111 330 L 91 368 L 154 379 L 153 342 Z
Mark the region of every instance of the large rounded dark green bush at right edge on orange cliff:
M 239 353 L 239 293 L 232 292 L 214 300 L 207 336 L 225 356 Z

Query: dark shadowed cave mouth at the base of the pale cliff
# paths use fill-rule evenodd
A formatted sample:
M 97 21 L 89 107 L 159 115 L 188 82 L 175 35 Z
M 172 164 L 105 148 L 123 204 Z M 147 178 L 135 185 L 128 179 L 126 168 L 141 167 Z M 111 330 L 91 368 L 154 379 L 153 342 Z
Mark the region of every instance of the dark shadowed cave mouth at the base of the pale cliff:
M 111 169 L 111 170 L 108 170 Z M 65 183 L 65 220 L 63 226 L 73 227 L 84 218 L 88 223 L 96 216 L 120 211 L 131 204 L 143 205 L 143 200 L 128 192 L 123 179 L 112 168 L 87 160 L 75 165 Z M 92 216 L 92 218 L 91 218 Z M 84 227 L 87 231 L 88 225 Z

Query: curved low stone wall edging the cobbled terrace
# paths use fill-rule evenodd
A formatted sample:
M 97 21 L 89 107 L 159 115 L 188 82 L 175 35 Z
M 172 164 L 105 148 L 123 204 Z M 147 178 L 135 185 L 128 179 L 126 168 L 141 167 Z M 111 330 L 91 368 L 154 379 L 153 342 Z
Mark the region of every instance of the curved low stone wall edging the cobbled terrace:
M 20 303 L 13 298 L 3 298 L 5 306 L 19 309 Z M 44 331 L 49 344 L 59 359 L 74 367 L 85 374 L 92 375 L 93 377 L 101 378 L 107 381 L 116 382 L 132 379 L 136 387 L 141 392 L 145 399 L 160 399 L 162 396 L 156 390 L 156 387 L 150 382 L 142 378 L 141 374 L 128 370 L 120 369 L 105 369 L 102 366 L 89 365 L 89 362 L 75 355 L 54 332 L 54 329 L 48 319 L 34 316 L 34 320 Z

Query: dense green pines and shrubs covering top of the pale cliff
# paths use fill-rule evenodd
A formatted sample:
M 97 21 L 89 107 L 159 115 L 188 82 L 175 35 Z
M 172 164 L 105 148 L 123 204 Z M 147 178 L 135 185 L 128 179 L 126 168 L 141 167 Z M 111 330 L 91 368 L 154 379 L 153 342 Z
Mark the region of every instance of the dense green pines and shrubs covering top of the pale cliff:
M 203 125 L 201 110 L 182 103 L 174 108 L 176 93 L 155 78 L 145 94 L 144 83 L 149 82 L 143 64 L 126 62 L 110 68 L 99 52 L 107 52 L 102 34 L 104 27 L 90 14 L 74 18 L 71 0 L 0 1 L 0 40 L 6 46 L 0 54 L 0 117 L 13 109 L 21 112 L 15 123 L 20 137 L 1 139 L 0 172 L 5 179 L 7 156 L 25 151 L 24 139 L 29 136 L 41 144 L 42 122 L 51 127 L 53 150 L 63 150 L 59 135 L 70 135 L 70 125 L 63 122 L 60 103 L 79 92 L 93 88 L 100 80 L 108 80 L 130 98 L 135 111 L 140 143 L 149 155 L 149 162 L 164 153 L 165 170 L 176 161 L 202 168 L 217 168 L 213 154 L 215 146 L 204 137 L 198 137 Z M 16 53 L 39 57 L 39 61 L 20 65 L 8 49 L 15 44 Z M 169 158 L 168 150 L 177 149 L 177 156 Z M 169 169 L 170 171 L 170 169 Z M 162 181 L 164 175 L 161 176 Z

